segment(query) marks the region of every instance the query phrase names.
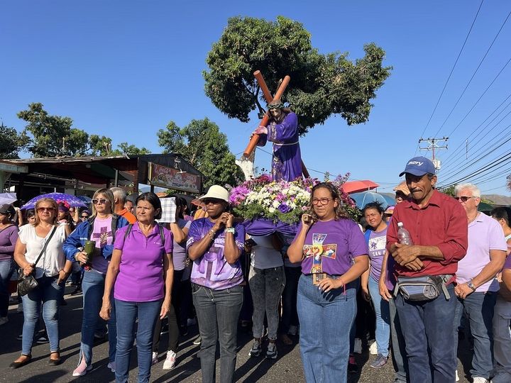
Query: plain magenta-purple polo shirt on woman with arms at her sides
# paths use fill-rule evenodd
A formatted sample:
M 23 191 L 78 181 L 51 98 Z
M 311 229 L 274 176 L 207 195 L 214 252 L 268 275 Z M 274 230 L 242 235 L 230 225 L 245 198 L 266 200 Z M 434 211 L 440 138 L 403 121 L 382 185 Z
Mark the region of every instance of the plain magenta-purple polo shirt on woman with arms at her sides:
M 114 298 L 129 302 L 150 302 L 163 299 L 163 256 L 172 252 L 172 233 L 163 228 L 165 245 L 161 243 L 160 229 L 155 226 L 148 237 L 143 235 L 138 222 L 126 236 L 128 226 L 116 232 L 114 249 L 122 250 L 119 274 L 114 286 Z

